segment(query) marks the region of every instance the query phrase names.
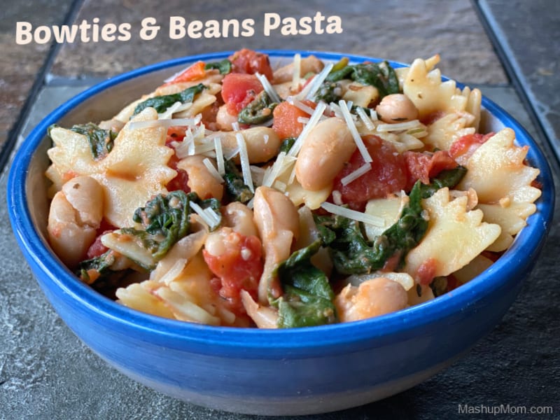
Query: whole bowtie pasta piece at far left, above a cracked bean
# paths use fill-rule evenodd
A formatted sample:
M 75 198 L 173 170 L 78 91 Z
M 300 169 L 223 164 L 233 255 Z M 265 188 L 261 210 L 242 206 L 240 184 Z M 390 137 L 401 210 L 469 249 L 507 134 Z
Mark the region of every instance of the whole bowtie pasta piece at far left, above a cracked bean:
M 63 128 L 50 132 L 55 147 L 48 151 L 51 168 L 47 176 L 56 185 L 73 176 L 89 175 L 104 188 L 104 217 L 118 228 L 130 226 L 137 208 L 153 195 L 167 193 L 165 186 L 176 172 L 167 166 L 173 150 L 165 146 L 167 130 L 151 121 L 158 113 L 147 108 L 127 123 L 106 158 L 94 160 L 85 136 Z M 134 128 L 132 124 L 147 123 Z

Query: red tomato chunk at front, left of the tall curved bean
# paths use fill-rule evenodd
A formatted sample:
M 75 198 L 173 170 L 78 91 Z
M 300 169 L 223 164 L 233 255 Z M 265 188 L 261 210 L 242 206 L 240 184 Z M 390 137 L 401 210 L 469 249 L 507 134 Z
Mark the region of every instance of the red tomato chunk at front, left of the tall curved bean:
M 260 239 L 245 236 L 234 230 L 225 232 L 223 252 L 212 255 L 204 249 L 202 255 L 211 272 L 219 281 L 213 281 L 218 294 L 228 300 L 236 314 L 245 312 L 241 302 L 241 290 L 246 290 L 257 300 L 258 282 L 262 275 L 262 246 Z

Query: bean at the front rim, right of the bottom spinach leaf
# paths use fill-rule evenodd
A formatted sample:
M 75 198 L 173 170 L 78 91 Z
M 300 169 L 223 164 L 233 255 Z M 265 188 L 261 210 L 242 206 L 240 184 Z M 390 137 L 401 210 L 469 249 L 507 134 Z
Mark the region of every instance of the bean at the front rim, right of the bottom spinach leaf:
M 358 321 L 407 307 L 408 295 L 400 283 L 376 277 L 360 286 L 349 284 L 335 297 L 341 322 Z

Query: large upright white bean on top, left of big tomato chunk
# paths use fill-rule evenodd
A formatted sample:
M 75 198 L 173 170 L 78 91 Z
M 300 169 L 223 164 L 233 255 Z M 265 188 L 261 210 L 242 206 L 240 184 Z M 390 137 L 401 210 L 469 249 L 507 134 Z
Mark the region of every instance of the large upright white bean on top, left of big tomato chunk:
M 303 142 L 295 177 L 305 190 L 327 188 L 355 150 L 356 143 L 342 118 L 323 120 Z

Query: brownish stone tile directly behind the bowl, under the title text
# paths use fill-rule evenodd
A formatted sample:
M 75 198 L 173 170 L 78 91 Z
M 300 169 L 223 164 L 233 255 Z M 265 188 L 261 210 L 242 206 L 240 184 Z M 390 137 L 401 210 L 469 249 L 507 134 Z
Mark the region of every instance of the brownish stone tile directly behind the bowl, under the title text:
M 284 36 L 280 29 L 264 36 L 265 13 L 277 13 L 281 19 L 313 17 L 317 10 L 325 17 L 342 19 L 342 34 Z M 169 37 L 169 18 L 179 16 L 187 25 L 194 20 L 253 19 L 255 34 L 237 38 L 193 39 Z M 151 41 L 139 36 L 141 20 L 153 17 L 161 26 Z M 111 76 L 165 59 L 241 47 L 254 49 L 302 49 L 351 52 L 412 62 L 416 57 L 442 55 L 442 72 L 465 83 L 507 83 L 496 54 L 468 1 L 370 0 L 298 1 L 162 1 L 133 2 L 85 0 L 76 22 L 99 25 L 130 23 L 130 41 L 111 43 L 69 43 L 64 45 L 52 68 L 55 77 Z M 323 29 L 326 25 L 323 24 Z M 472 48 L 476 45 L 476 48 Z

